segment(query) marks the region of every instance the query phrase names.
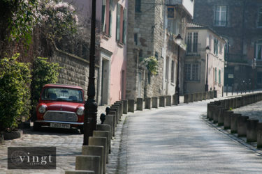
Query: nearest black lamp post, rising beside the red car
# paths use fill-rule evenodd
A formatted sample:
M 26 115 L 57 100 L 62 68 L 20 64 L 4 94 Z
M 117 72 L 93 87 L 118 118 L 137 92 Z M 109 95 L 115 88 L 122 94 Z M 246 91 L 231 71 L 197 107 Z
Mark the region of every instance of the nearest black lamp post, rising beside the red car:
M 87 101 L 85 102 L 85 118 L 84 118 L 84 142 L 88 145 L 89 136 L 93 136 L 96 129 L 97 104 L 95 100 L 96 89 L 94 84 L 94 61 L 96 48 L 96 0 L 92 0 L 92 20 L 91 20 L 91 40 L 90 40 L 90 56 L 89 56 L 89 81 L 87 88 Z

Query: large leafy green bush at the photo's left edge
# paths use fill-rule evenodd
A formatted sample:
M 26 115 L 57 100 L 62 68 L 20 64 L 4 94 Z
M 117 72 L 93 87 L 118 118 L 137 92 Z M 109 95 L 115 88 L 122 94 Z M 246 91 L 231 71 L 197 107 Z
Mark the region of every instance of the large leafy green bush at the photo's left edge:
M 17 62 L 18 56 L 0 60 L 0 131 L 14 129 L 22 116 L 29 115 L 29 63 Z

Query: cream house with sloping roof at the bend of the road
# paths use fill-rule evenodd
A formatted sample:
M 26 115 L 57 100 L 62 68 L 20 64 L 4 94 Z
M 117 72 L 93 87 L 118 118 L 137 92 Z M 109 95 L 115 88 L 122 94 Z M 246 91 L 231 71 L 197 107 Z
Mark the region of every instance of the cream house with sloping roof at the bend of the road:
M 217 90 L 221 95 L 224 86 L 224 47 L 226 41 L 206 26 L 187 25 L 187 52 L 184 62 L 185 93 Z M 210 48 L 207 52 L 206 47 Z M 207 67 L 208 66 L 208 67 Z M 208 70 L 208 72 L 207 72 Z

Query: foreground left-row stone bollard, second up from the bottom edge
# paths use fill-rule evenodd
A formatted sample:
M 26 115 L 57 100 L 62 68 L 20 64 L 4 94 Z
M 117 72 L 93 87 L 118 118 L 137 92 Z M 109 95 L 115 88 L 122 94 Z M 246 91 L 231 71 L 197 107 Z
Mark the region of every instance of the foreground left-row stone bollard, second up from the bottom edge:
M 100 160 L 99 156 L 78 155 L 75 157 L 75 170 L 94 171 L 95 174 L 100 174 Z

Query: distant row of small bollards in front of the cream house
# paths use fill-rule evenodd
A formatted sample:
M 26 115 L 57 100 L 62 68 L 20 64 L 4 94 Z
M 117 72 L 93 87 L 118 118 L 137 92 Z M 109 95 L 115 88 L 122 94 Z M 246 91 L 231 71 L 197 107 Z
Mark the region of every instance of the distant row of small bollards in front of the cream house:
M 217 98 L 217 90 L 210 90 L 204 93 L 184 94 L 184 103 L 198 102 Z

